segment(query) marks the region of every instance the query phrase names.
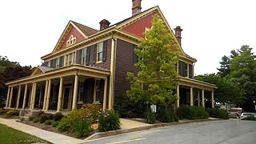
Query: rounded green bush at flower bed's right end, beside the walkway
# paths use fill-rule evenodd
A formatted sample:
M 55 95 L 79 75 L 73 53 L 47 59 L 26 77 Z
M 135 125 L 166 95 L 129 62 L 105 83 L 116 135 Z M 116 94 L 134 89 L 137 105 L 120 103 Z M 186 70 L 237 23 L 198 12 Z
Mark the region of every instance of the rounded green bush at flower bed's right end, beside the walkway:
M 106 110 L 99 115 L 98 130 L 101 132 L 120 129 L 120 118 L 114 110 Z

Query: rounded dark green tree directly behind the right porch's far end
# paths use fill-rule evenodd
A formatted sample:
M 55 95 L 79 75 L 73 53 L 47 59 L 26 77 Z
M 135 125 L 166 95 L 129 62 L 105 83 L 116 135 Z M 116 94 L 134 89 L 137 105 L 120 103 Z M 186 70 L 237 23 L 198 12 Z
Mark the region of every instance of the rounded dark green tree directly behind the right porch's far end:
M 236 83 L 230 82 L 230 78 L 228 77 L 221 77 L 218 74 L 204 74 L 195 76 L 194 78 L 218 86 L 218 89 L 214 93 L 215 102 L 241 104 L 244 100 L 242 91 Z

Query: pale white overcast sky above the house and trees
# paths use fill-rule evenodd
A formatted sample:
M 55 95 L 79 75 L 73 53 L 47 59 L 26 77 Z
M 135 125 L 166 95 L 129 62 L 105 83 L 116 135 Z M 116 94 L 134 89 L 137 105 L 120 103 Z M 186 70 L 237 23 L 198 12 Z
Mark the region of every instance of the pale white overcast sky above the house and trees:
M 256 52 L 254 0 L 142 0 L 159 6 L 172 29 L 181 26 L 182 49 L 196 58 L 194 74 L 217 73 L 223 55 L 249 45 Z M 132 0 L 6 0 L 0 2 L 0 55 L 38 66 L 54 50 L 70 20 L 99 30 L 132 14 Z M 110 24 L 110 25 L 111 25 Z

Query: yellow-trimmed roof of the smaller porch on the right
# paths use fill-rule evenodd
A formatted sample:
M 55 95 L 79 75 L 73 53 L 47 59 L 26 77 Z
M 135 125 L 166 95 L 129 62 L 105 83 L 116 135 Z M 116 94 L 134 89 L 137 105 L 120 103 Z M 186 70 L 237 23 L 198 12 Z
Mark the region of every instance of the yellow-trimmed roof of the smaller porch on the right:
M 179 85 L 182 85 L 182 86 L 190 86 L 190 87 L 203 89 L 203 90 L 214 91 L 218 89 L 218 86 L 214 84 L 198 81 L 196 79 L 191 79 L 191 78 L 180 77 L 180 79 L 178 80 L 178 83 Z

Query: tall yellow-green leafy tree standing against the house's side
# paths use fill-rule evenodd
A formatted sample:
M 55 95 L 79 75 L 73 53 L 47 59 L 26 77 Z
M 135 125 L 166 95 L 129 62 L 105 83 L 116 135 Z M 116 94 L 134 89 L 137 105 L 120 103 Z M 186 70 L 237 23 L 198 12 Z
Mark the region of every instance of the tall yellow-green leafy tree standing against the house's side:
M 175 64 L 178 61 L 177 45 L 174 36 L 161 18 L 154 16 L 152 29 L 146 32 L 138 48 L 138 74 L 128 73 L 130 90 L 126 94 L 136 102 L 166 106 L 177 98 L 174 89 L 178 84 L 178 74 Z

